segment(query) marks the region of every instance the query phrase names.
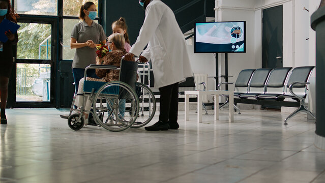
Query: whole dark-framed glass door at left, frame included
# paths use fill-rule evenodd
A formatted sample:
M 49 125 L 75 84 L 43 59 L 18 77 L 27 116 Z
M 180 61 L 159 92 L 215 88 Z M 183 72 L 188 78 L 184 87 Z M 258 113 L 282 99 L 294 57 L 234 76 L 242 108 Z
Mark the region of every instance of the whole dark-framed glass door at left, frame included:
M 10 79 L 11 107 L 52 107 L 52 22 L 19 19 L 16 67 Z

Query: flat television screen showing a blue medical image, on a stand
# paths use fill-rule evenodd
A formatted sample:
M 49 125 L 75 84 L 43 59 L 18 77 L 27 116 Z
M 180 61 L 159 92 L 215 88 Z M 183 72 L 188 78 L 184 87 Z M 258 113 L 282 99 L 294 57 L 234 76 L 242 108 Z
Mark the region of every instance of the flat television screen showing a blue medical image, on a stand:
M 194 53 L 245 53 L 246 21 L 197 22 Z

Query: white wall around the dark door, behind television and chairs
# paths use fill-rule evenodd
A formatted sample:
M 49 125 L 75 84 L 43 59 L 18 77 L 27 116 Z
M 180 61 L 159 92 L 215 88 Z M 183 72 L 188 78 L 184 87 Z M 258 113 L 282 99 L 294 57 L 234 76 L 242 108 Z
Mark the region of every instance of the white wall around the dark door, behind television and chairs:
M 315 66 L 315 32 L 310 28 L 310 16 L 319 3 L 320 0 L 216 0 L 216 21 L 246 20 L 246 53 L 228 53 L 228 75 L 234 76 L 229 78 L 229 82 L 235 82 L 243 69 L 261 67 L 262 10 L 279 5 L 283 5 L 283 67 Z M 304 10 L 304 7 L 310 12 Z M 205 71 L 209 76 L 215 75 L 213 54 L 194 54 L 192 48 L 189 48 L 189 52 L 193 72 Z M 219 54 L 219 75 L 224 73 L 224 54 Z M 210 79 L 209 88 L 214 83 Z M 315 111 L 314 74 L 310 83 L 309 100 L 312 111 Z

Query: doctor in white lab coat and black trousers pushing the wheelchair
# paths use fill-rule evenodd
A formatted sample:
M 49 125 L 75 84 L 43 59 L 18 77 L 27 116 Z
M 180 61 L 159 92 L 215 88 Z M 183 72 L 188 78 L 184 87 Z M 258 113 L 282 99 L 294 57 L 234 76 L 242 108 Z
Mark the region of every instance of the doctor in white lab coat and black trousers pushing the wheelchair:
M 160 92 L 159 121 L 148 131 L 178 129 L 179 82 L 192 76 L 184 35 L 172 10 L 160 0 L 140 0 L 145 19 L 139 36 L 125 59 L 140 62 L 152 59 L 155 87 Z

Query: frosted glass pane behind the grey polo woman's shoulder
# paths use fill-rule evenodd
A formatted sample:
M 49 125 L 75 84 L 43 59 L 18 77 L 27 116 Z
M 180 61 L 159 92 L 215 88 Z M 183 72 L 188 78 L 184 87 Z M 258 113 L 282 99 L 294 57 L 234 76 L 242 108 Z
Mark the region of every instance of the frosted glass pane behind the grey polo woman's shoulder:
M 76 52 L 76 49 L 70 48 L 70 41 L 71 41 L 71 32 L 73 29 L 73 26 L 76 23 L 79 23 L 81 20 L 75 20 L 75 19 L 64 19 L 63 20 L 63 59 L 65 60 L 72 60 L 74 57 L 74 53 Z M 98 23 L 97 20 L 94 20 L 96 23 Z

